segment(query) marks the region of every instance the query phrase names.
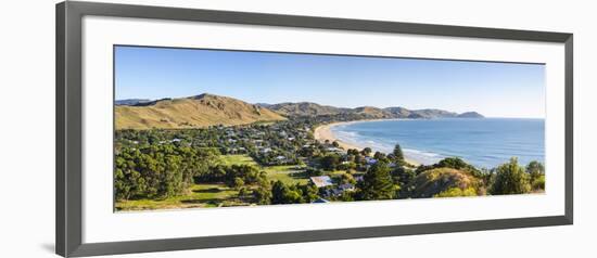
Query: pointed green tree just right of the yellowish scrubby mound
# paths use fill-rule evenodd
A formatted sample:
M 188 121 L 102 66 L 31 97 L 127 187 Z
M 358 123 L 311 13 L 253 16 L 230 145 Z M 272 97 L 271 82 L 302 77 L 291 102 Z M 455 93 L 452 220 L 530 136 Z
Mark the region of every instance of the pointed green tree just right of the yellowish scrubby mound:
M 490 194 L 523 194 L 531 191 L 529 175 L 518 165 L 516 157 L 496 168 L 495 177 L 490 185 Z

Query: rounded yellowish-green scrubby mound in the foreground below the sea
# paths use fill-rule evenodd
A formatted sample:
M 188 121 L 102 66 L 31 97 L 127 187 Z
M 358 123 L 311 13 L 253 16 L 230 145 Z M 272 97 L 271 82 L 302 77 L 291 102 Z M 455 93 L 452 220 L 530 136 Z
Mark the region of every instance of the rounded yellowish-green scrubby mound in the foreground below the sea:
M 410 197 L 450 197 L 484 194 L 481 181 L 469 172 L 453 168 L 434 168 L 417 176 L 408 185 Z

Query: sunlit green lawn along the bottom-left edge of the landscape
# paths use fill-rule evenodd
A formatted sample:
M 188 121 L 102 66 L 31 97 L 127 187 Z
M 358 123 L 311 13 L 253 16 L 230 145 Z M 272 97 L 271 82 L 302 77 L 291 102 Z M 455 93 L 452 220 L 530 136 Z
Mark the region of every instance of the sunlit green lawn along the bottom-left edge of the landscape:
M 117 210 L 177 209 L 247 205 L 238 191 L 224 184 L 194 184 L 186 195 L 162 199 L 135 199 L 116 203 Z

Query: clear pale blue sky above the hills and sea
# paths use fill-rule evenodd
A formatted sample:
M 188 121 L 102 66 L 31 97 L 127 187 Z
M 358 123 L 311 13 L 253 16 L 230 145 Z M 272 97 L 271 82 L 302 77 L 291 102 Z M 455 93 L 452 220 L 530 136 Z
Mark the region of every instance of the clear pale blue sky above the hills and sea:
M 115 94 L 213 93 L 250 103 L 477 111 L 545 117 L 545 66 L 492 62 L 116 47 Z

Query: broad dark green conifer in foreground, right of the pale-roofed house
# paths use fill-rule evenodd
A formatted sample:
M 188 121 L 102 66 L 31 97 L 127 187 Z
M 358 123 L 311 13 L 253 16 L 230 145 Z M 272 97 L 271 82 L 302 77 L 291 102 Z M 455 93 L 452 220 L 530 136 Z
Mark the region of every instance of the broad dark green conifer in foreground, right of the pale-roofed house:
M 385 163 L 371 166 L 357 186 L 359 199 L 391 199 L 396 195 L 390 168 Z

